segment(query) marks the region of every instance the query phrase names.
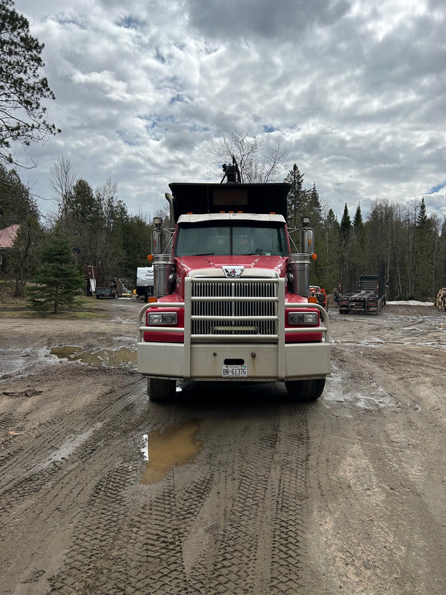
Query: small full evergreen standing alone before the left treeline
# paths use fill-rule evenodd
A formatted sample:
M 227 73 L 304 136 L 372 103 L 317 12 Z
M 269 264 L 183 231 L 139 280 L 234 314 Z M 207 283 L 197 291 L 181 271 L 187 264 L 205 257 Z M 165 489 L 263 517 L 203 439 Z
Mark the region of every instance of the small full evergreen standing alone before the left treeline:
M 70 241 L 59 232 L 49 234 L 40 253 L 40 266 L 29 287 L 29 304 L 38 312 L 58 314 L 81 303 L 84 277 L 75 264 Z

